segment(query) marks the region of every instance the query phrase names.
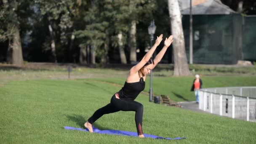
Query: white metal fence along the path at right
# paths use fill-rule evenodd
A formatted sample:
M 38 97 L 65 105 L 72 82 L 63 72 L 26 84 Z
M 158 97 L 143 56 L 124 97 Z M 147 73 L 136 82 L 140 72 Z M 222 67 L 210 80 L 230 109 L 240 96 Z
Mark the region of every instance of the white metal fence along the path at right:
M 200 89 L 199 109 L 221 116 L 256 122 L 256 87 Z

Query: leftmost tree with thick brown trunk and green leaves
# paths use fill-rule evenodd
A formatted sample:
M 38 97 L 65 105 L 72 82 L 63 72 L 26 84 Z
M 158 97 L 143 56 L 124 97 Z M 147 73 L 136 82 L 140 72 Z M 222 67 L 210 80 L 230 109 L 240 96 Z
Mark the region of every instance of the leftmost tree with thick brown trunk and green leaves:
M 19 16 L 17 10 L 23 2 L 3 0 L 0 6 L 0 41 L 9 41 L 7 60 L 11 64 L 23 64 L 21 38 L 19 32 Z

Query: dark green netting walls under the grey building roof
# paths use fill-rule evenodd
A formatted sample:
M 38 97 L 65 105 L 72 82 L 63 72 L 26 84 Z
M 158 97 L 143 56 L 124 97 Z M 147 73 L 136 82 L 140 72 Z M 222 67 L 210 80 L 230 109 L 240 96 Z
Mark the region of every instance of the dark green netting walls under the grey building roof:
M 189 16 L 182 17 L 189 60 Z M 236 64 L 256 61 L 256 17 L 232 15 L 193 16 L 193 63 Z

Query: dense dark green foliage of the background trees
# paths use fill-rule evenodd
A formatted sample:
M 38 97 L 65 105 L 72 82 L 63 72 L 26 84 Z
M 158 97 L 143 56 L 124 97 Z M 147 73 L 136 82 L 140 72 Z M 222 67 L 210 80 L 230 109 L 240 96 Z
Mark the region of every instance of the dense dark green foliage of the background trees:
M 239 0 L 221 1 L 236 11 Z M 255 14 L 256 3 L 253 0 L 243 2 L 243 13 Z M 48 62 L 53 39 L 48 29 L 51 24 L 59 62 L 78 61 L 79 48 L 85 45 L 92 46 L 98 58 L 96 62 L 100 62 L 100 58 L 106 56 L 107 52 L 113 57 L 114 53 L 118 53 L 119 32 L 123 34 L 125 53 L 128 54 L 128 32 L 131 21 L 135 20 L 139 59 L 144 56 L 144 50 L 150 44 L 147 27 L 152 19 L 155 19 L 157 26 L 154 37 L 162 33 L 164 36 L 171 35 L 167 7 L 166 0 L 1 0 L 0 45 L 4 51 L 8 49 L 6 43 L 13 34 L 13 25 L 19 24 L 24 59 Z M 76 37 L 71 47 L 70 38 L 73 33 Z M 159 47 L 162 46 L 163 43 Z M 165 58 L 170 57 L 168 51 Z M 75 60 L 70 60 L 69 56 Z M 0 57 L 5 55 L 1 53 Z

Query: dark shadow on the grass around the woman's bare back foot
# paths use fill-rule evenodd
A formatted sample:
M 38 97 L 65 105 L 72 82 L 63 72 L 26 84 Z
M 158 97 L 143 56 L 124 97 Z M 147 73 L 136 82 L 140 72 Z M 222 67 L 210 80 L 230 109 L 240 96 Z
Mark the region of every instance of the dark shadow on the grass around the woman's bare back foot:
M 84 123 L 87 121 L 82 115 L 66 115 L 68 120 L 75 122 L 80 128 L 85 128 Z M 111 130 L 111 128 L 103 127 L 97 123 L 93 123 L 93 126 L 99 130 Z

